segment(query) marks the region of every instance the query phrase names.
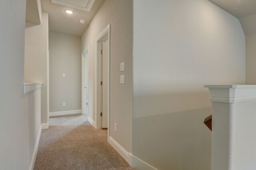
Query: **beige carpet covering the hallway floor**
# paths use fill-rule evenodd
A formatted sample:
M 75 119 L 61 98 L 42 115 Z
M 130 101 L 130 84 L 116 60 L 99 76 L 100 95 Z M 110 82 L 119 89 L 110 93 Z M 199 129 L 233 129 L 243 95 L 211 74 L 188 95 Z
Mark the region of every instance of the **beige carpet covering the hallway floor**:
M 42 130 L 34 170 L 135 170 L 110 146 L 104 130 L 85 115 L 49 119 Z

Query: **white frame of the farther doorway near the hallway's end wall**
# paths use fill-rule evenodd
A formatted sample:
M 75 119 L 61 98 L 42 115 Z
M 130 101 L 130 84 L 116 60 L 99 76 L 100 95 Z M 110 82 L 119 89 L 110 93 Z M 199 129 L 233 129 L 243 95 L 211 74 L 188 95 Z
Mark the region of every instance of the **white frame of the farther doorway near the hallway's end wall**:
M 85 65 L 84 65 L 84 63 L 85 63 L 85 57 L 84 57 L 84 55 L 87 53 L 87 56 L 86 56 L 86 59 L 87 59 L 87 72 L 86 72 L 86 75 L 84 75 L 84 68 L 85 68 Z M 89 81 L 89 79 L 88 79 L 88 56 L 89 56 L 89 46 L 88 47 L 86 47 L 86 49 L 82 52 L 82 60 L 81 60 L 81 71 L 82 71 L 82 73 L 81 73 L 81 76 L 82 76 L 82 100 L 81 100 L 81 104 L 82 104 L 82 114 L 85 114 L 86 113 L 86 110 L 88 111 L 88 115 L 87 115 L 87 118 L 89 117 L 89 94 L 87 94 L 88 95 L 88 108 L 86 108 L 86 110 L 85 110 L 85 101 L 84 101 L 84 95 L 85 95 L 85 93 L 84 93 L 84 87 L 86 86 L 86 88 L 87 88 L 87 92 L 89 93 L 89 90 L 88 90 L 88 86 L 89 86 L 89 83 L 88 83 L 88 81 Z M 85 76 L 87 76 L 87 81 L 86 81 L 86 85 L 84 84 L 84 77 Z

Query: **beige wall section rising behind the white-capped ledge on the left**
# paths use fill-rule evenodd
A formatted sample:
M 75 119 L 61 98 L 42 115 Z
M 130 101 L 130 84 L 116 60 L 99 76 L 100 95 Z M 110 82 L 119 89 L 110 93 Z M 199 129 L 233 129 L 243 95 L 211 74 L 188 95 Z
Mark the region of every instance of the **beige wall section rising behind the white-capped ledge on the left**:
M 42 12 L 40 25 L 26 28 L 24 82 L 42 85 L 41 120 L 48 123 L 47 116 L 47 53 L 48 13 Z

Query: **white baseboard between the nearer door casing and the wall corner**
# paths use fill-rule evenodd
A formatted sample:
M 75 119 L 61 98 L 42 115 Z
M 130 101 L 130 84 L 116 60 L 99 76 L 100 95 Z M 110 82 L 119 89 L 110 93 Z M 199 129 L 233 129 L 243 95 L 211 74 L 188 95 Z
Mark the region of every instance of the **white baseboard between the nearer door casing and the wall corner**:
M 109 143 L 110 145 L 132 166 L 132 161 L 131 161 L 131 155 L 129 152 L 127 152 L 114 138 L 109 136 Z

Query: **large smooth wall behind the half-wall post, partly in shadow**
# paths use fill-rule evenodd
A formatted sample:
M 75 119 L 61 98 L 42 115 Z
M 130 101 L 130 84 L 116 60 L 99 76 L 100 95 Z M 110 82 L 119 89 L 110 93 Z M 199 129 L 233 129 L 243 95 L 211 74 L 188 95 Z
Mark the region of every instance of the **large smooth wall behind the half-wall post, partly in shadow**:
M 133 155 L 157 169 L 210 169 L 203 85 L 245 83 L 239 20 L 208 0 L 134 0 L 133 31 Z

